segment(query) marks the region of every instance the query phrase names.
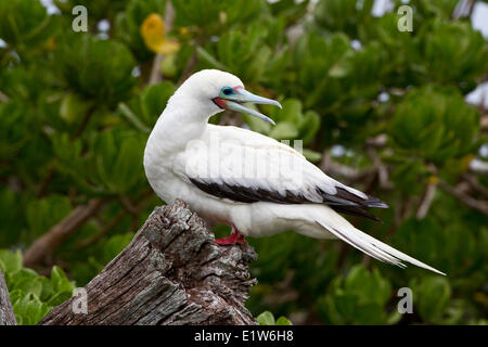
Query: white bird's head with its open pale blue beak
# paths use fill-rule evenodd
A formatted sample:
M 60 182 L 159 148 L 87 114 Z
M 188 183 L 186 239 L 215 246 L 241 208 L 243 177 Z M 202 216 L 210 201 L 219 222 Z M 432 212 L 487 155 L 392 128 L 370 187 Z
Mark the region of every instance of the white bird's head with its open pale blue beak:
M 274 121 L 271 118 L 244 106 L 244 103 L 271 104 L 281 108 L 278 101 L 248 92 L 239 77 L 218 69 L 203 69 L 193 74 L 181 85 L 176 95 L 198 102 L 202 107 L 208 108 L 211 115 L 223 110 L 232 110 L 258 117 L 272 125 Z

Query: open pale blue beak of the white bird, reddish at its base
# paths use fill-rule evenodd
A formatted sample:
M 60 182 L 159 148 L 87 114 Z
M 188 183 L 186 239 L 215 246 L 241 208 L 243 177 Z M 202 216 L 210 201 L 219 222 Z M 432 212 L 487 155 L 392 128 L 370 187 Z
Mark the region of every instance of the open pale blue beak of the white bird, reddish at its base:
M 256 110 L 246 107 L 243 104 L 246 102 L 251 102 L 254 104 L 277 105 L 278 107 L 281 108 L 281 104 L 278 101 L 255 95 L 245 90 L 243 87 L 232 88 L 232 93 L 229 94 L 220 93 L 218 98 L 214 99 L 214 102 L 221 108 L 246 113 L 252 116 L 258 117 L 259 119 L 268 121 L 273 126 L 275 125 L 275 123 L 271 118 L 265 116 L 264 114 L 257 112 Z

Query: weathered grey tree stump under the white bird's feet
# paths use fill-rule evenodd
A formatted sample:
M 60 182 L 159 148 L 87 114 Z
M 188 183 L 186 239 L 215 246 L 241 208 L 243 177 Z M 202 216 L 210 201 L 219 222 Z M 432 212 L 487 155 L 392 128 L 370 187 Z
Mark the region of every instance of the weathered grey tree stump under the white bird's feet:
M 256 258 L 249 246 L 217 245 L 204 220 L 177 201 L 155 208 L 87 284 L 87 313 L 76 308 L 84 297 L 74 296 L 39 324 L 256 324 L 244 307 Z

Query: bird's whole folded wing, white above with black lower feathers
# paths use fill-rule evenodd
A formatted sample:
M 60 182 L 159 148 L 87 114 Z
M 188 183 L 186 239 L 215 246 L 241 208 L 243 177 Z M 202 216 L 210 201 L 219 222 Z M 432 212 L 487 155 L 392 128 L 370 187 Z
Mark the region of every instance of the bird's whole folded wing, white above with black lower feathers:
M 364 207 L 387 207 L 330 178 L 292 147 L 266 139 L 194 143 L 175 157 L 174 170 L 215 198 L 240 203 L 328 204 L 369 218 Z

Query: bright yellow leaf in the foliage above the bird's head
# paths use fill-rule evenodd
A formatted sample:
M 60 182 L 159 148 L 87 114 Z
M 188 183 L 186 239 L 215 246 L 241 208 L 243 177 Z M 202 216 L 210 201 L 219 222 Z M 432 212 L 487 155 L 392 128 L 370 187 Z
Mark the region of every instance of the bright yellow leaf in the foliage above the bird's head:
M 159 54 L 171 54 L 179 50 L 177 40 L 168 40 L 165 33 L 165 22 L 157 13 L 150 14 L 141 25 L 141 35 L 145 46 Z

